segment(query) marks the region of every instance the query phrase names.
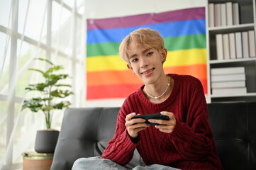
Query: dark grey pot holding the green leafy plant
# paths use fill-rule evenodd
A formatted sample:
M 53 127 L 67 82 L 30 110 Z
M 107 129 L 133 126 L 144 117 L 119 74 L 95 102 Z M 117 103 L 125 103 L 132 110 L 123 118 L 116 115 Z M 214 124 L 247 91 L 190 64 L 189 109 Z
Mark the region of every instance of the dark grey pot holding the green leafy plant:
M 38 130 L 35 137 L 35 152 L 53 153 L 59 133 L 58 130 Z

